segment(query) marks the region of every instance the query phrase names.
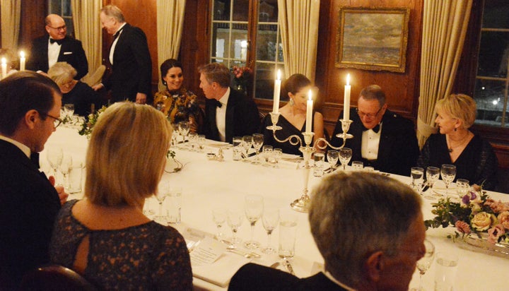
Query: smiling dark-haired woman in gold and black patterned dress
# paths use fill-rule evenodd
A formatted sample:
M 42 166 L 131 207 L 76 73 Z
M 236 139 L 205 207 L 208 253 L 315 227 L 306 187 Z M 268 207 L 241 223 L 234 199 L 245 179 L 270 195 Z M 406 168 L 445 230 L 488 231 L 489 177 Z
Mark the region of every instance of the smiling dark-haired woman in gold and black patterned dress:
M 199 132 L 203 112 L 198 105 L 197 95 L 182 87 L 182 64 L 176 59 L 167 59 L 160 65 L 160 72 L 166 89 L 154 95 L 154 107 L 162 111 L 172 124 L 189 121 L 190 131 Z

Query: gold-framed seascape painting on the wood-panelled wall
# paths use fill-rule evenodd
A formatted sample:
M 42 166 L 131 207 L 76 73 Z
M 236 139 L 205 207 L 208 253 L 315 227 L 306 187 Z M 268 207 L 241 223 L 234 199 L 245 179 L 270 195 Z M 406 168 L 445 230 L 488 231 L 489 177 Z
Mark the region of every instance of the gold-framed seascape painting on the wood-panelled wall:
M 339 8 L 338 68 L 404 73 L 409 8 Z

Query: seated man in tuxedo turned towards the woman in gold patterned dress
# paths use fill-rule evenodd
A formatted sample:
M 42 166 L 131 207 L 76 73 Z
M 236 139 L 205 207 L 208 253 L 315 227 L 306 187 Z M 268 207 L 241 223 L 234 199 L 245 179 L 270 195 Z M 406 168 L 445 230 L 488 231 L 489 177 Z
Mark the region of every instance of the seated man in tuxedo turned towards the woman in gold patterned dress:
M 219 63 L 199 67 L 205 103 L 204 134 L 232 143 L 233 136 L 249 136 L 260 126 L 258 107 L 244 93 L 230 89 L 230 71 Z

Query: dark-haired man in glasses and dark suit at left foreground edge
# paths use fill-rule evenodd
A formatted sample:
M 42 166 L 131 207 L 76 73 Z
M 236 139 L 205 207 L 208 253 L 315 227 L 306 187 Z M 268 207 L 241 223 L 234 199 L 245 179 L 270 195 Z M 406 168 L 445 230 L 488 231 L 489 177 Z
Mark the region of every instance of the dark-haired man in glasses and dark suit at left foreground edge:
M 21 71 L 0 81 L 0 290 L 49 262 L 54 220 L 67 194 L 39 172 L 38 153 L 60 124 L 62 94 L 51 79 Z

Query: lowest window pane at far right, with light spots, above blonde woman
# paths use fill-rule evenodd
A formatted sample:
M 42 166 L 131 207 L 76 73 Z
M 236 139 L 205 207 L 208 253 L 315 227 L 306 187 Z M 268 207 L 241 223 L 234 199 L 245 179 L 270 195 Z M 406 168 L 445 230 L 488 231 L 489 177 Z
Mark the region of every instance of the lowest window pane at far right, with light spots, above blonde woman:
M 474 99 L 477 103 L 476 124 L 501 126 L 505 100 L 505 81 L 476 80 Z M 508 114 L 505 114 L 505 126 Z

